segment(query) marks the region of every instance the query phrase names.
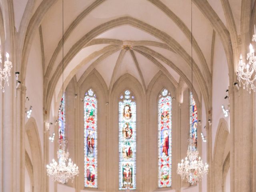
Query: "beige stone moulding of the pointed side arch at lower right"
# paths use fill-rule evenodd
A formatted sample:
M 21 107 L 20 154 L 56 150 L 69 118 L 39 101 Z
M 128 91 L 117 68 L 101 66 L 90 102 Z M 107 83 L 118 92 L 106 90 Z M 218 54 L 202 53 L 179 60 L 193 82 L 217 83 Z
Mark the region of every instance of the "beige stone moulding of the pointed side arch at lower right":
M 225 151 L 230 150 L 228 123 L 224 118 L 219 120 L 218 129 L 214 144 L 213 154 L 213 169 L 214 169 L 214 191 L 220 192 L 223 190 L 222 183 L 224 178 L 224 163 L 226 160 Z M 226 162 L 227 164 L 227 162 Z M 225 168 L 226 169 L 226 168 Z M 227 171 L 227 170 L 226 170 Z

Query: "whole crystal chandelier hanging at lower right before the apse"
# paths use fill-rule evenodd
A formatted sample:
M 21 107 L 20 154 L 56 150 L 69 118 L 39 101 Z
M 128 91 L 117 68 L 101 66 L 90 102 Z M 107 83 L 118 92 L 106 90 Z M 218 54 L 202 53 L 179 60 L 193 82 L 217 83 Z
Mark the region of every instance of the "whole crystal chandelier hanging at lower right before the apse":
M 202 162 L 201 157 L 198 157 L 196 142 L 192 138 L 189 139 L 188 151 L 185 161 L 182 159 L 178 164 L 177 173 L 182 180 L 186 180 L 190 184 L 195 184 L 208 173 L 208 164 Z

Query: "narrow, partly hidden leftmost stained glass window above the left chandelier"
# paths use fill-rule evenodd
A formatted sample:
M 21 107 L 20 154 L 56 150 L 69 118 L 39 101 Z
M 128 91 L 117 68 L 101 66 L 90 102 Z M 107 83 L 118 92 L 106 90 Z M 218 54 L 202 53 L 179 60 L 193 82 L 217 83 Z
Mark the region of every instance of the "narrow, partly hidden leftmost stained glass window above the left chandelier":
M 59 138 L 64 140 L 65 139 L 65 93 L 63 94 L 60 101 L 58 123 L 59 123 Z

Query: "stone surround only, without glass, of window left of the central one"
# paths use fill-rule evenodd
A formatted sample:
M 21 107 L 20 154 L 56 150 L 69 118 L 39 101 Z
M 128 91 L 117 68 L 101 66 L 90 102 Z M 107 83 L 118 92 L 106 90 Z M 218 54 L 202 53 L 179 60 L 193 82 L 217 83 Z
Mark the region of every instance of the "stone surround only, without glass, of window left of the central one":
M 91 188 L 84 188 L 84 102 L 80 100 L 84 99 L 85 93 L 89 89 L 94 90 L 98 100 L 98 190 L 106 191 L 106 174 L 107 174 L 107 156 L 108 148 L 107 145 L 107 110 L 108 110 L 108 88 L 102 76 L 99 72 L 94 69 L 85 78 L 85 80 L 78 87 L 78 98 L 77 99 L 77 109 L 78 109 L 78 119 L 76 124 L 76 148 L 78 149 L 78 167 L 79 176 L 77 189 L 90 191 Z M 92 191 L 95 189 L 92 189 Z

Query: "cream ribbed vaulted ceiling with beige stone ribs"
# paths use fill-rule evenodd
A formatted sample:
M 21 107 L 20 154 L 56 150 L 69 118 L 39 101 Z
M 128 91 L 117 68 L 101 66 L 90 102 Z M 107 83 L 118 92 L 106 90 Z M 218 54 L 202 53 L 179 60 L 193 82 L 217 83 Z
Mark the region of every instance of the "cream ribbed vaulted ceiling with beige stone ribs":
M 59 94 L 62 86 L 62 0 L 46 3 L 35 1 L 33 14 L 44 10 L 39 28 L 44 54 L 44 96 L 53 96 Z M 212 91 L 216 32 L 205 11 L 216 14 L 214 19 L 225 28 L 223 5 L 230 7 L 239 32 L 241 0 L 194 0 L 192 4 L 193 86 L 198 95 L 210 95 Z M 126 73 L 147 90 L 158 71 L 174 86 L 183 80 L 190 87 L 190 32 L 189 0 L 64 0 L 65 86 L 74 77 L 78 84 L 82 83 L 96 69 L 109 90 Z

